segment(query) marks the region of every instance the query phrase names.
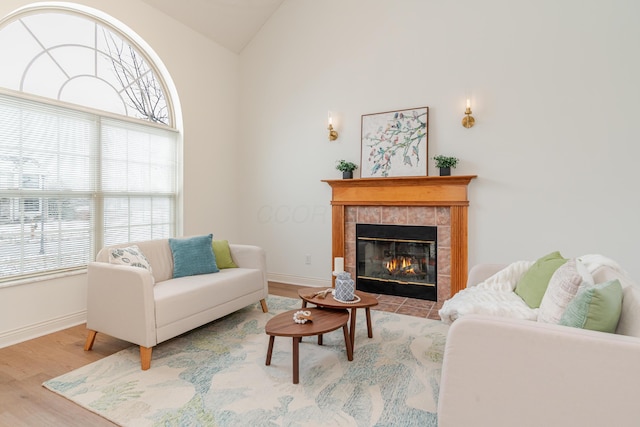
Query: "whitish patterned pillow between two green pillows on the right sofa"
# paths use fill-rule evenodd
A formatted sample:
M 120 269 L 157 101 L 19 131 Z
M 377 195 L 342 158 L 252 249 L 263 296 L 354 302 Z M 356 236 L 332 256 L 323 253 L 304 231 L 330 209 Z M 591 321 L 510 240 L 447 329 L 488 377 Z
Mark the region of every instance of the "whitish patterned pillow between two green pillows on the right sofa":
M 558 268 L 549 280 L 538 312 L 538 322 L 559 323 L 578 289 L 593 286 L 593 277 L 580 261 L 570 259 Z

